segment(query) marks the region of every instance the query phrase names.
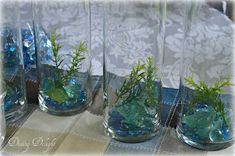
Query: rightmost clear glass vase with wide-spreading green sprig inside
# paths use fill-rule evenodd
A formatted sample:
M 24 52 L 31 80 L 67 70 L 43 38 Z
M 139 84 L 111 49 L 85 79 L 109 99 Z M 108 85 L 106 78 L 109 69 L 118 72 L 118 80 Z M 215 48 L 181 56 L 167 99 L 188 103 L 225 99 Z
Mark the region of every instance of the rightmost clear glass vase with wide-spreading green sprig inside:
M 232 28 L 228 23 L 214 29 L 213 13 L 202 2 L 186 5 L 176 128 L 180 140 L 204 150 L 225 148 L 234 138 L 233 49 L 227 44 L 232 36 L 224 32 Z

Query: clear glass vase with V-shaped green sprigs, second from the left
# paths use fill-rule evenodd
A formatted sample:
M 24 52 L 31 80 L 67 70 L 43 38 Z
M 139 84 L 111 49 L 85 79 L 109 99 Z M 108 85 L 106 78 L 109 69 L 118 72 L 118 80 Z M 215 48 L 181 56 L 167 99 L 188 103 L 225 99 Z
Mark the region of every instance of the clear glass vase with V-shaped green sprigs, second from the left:
M 54 115 L 82 112 L 91 103 L 89 2 L 33 6 L 40 108 Z

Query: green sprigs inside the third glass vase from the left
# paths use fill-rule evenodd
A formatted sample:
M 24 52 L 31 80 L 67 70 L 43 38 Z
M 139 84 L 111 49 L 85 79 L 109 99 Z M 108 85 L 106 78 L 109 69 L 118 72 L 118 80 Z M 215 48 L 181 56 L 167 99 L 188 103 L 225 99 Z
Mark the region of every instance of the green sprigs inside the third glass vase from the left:
M 128 101 L 136 96 L 146 95 L 146 104 L 156 104 L 157 98 L 154 83 L 157 79 L 157 67 L 153 65 L 152 57 L 148 57 L 146 62 L 146 64 L 140 64 L 138 60 L 130 75 L 123 82 L 122 87 L 117 91 L 118 99 L 122 98 Z M 141 86 L 141 81 L 143 81 L 144 87 L 143 85 Z

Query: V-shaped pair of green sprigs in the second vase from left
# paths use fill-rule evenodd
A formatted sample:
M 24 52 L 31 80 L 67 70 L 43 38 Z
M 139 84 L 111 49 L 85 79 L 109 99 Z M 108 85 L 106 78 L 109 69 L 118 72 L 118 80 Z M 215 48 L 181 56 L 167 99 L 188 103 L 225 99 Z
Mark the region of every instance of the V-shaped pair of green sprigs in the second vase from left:
M 65 59 L 64 56 L 59 54 L 59 50 L 62 48 L 62 46 L 59 43 L 56 43 L 56 35 L 54 32 L 50 35 L 51 43 L 52 43 L 52 52 L 53 52 L 53 59 L 51 59 L 56 66 L 56 75 L 58 80 L 58 84 L 64 84 L 69 79 L 71 79 L 72 76 L 77 72 L 77 70 L 81 66 L 81 62 L 85 59 L 84 53 L 87 52 L 87 48 L 85 47 L 84 42 L 81 42 L 79 45 L 75 46 L 75 50 L 71 52 L 71 54 L 68 54 L 66 56 L 71 57 L 71 65 L 68 66 L 68 70 L 66 73 L 62 72 L 62 63 Z M 61 82 L 62 81 L 62 82 Z

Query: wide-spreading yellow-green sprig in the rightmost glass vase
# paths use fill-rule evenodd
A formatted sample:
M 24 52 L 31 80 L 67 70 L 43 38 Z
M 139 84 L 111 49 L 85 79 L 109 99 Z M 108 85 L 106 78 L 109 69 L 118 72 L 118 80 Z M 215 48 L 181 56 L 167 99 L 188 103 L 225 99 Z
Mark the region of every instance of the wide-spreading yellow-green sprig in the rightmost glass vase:
M 224 81 L 216 81 L 213 85 L 209 86 L 201 80 L 199 81 L 199 84 L 196 84 L 193 77 L 190 76 L 185 78 L 185 83 L 194 89 L 194 98 L 190 104 L 195 106 L 198 103 L 204 103 L 212 106 L 215 111 L 220 114 L 225 124 L 229 126 L 229 123 L 226 119 L 225 106 L 219 95 L 224 92 L 224 87 L 233 85 L 230 78 L 227 78 Z

